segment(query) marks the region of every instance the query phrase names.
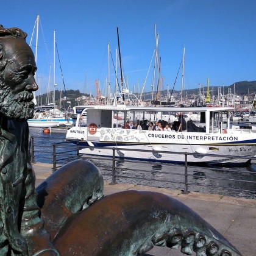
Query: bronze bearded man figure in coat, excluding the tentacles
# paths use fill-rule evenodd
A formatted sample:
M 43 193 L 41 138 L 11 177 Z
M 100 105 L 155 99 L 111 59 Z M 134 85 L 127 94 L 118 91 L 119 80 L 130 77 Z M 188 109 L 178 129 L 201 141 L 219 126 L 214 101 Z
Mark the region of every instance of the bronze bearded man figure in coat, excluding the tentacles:
M 0 26 L 0 254 L 58 255 L 43 228 L 30 160 L 35 58 L 21 29 Z

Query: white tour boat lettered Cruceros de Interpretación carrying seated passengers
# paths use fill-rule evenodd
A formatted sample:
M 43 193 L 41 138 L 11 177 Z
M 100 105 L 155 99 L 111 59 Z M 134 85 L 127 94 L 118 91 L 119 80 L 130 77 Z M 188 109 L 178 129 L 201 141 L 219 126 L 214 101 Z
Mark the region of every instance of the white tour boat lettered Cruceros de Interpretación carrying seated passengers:
M 185 162 L 210 164 L 244 164 L 246 158 L 256 155 L 256 131 L 249 129 L 231 129 L 230 113 L 233 107 L 139 107 L 126 105 L 80 105 L 74 107 L 77 114 L 76 126 L 68 129 L 67 140 L 79 140 L 81 154 L 109 156 L 116 151 L 116 157 L 159 162 Z M 79 125 L 79 116 L 87 115 L 87 127 Z M 185 116 L 187 127 L 183 131 L 158 131 L 123 129 L 126 121 L 137 122 L 165 120 L 173 122 L 177 116 Z M 197 126 L 191 131 L 190 119 Z M 199 128 L 198 128 L 199 127 Z M 196 131 L 195 131 L 196 130 Z M 96 148 L 100 147 L 100 148 Z M 140 149 L 125 151 L 123 149 Z M 164 152 L 147 152 L 164 151 Z M 167 154 L 165 152 L 176 152 Z M 209 156 L 208 154 L 214 155 Z M 222 157 L 220 156 L 222 155 Z M 226 157 L 224 158 L 223 155 Z

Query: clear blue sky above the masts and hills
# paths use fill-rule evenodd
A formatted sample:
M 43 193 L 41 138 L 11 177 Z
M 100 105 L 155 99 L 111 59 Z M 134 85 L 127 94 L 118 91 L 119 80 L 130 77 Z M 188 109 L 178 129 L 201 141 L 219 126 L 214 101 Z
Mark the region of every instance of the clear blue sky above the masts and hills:
M 49 65 L 52 81 L 55 30 L 66 89 L 95 94 L 94 80 L 99 79 L 104 94 L 107 45 L 110 42 L 115 62 L 116 27 L 130 91 L 138 90 L 138 86 L 141 90 L 146 79 L 155 48 L 154 26 L 159 35 L 163 88 L 174 85 L 184 47 L 185 89 L 207 85 L 207 78 L 210 86 L 221 87 L 256 80 L 255 13 L 254 0 L 3 0 L 0 24 L 20 27 L 27 32 L 29 43 L 36 15 L 40 15 L 37 80 L 41 93 L 48 88 Z M 63 82 L 57 55 L 55 64 L 55 82 L 60 90 Z M 112 91 L 114 73 L 111 61 Z M 153 65 L 145 91 L 151 91 L 152 77 Z M 52 82 L 50 85 L 52 90 Z M 180 88 L 181 71 L 174 89 Z

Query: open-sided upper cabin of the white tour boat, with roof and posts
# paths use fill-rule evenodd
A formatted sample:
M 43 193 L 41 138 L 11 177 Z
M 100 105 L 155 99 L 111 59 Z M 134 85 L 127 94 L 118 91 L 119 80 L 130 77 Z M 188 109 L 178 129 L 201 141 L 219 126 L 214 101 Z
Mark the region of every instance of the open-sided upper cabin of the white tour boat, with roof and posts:
M 230 127 L 230 113 L 232 107 L 137 107 L 137 106 L 109 106 L 89 105 L 74 107 L 77 114 L 76 126 L 79 126 L 80 115 L 87 115 L 87 126 L 96 125 L 98 129 L 123 127 L 127 121 L 139 123 L 147 120 L 149 122 L 164 120 L 169 124 L 177 121 L 182 115 L 185 121 L 191 121 L 196 127 L 206 133 L 225 133 Z M 183 131 L 193 132 L 186 127 Z M 196 131 L 196 130 L 194 130 Z

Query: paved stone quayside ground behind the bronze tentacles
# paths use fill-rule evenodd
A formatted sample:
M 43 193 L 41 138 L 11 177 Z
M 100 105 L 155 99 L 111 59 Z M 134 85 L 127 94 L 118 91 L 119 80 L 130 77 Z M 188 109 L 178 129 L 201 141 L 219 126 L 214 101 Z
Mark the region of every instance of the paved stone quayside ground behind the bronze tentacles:
M 52 174 L 52 165 L 48 163 L 33 164 L 36 187 Z M 222 196 L 191 192 L 182 194 L 180 190 L 144 187 L 141 185 L 118 183 L 110 185 L 104 180 L 104 195 L 125 190 L 155 191 L 171 196 L 198 213 L 219 233 L 221 233 L 243 256 L 255 255 L 256 244 L 256 200 L 241 197 Z M 158 247 L 145 256 L 185 255 L 179 250 Z M 194 254 L 193 254 L 194 255 Z

